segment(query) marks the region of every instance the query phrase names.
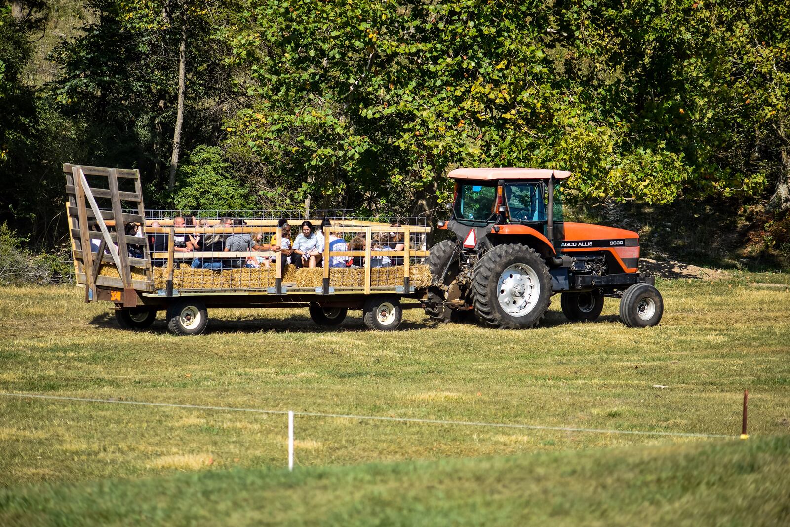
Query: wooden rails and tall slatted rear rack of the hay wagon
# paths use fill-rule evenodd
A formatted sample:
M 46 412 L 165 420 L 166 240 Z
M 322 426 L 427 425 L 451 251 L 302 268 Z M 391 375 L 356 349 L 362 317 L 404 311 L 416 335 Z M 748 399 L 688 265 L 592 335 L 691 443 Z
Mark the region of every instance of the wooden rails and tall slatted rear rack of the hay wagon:
M 77 283 L 85 287 L 86 301 L 93 299 L 107 299 L 107 292 L 100 292 L 98 288 L 113 288 L 119 290 L 119 295 L 112 295 L 112 299 L 119 300 L 119 305 L 134 306 L 139 302 L 139 296 L 172 296 L 192 294 L 195 292 L 228 292 L 233 294 L 260 295 L 288 295 L 291 293 L 313 292 L 322 295 L 330 293 L 362 293 L 365 295 L 371 292 L 411 292 L 410 272 L 412 268 L 412 258 L 427 257 L 428 251 L 424 247 L 412 248 L 412 235 L 424 235 L 430 232 L 430 228 L 415 225 L 404 225 L 395 227 L 389 224 L 378 223 L 369 220 L 343 219 L 332 220 L 333 224 L 323 228 L 325 236 L 324 252 L 322 254 L 325 262 L 322 268 L 322 287 L 304 288 L 295 287 L 295 284 L 285 284 L 283 282 L 283 266 L 281 258 L 284 258 L 281 251 L 275 251 L 273 256 L 274 287 L 255 287 L 250 284 L 247 288 L 180 288 L 175 289 L 174 274 L 175 270 L 182 266 L 182 262 L 188 262 L 194 258 L 204 261 L 225 261 L 233 258 L 248 258 L 261 256 L 258 251 L 190 251 L 179 252 L 175 250 L 175 235 L 230 235 L 234 233 L 264 233 L 276 235 L 276 239 L 282 239 L 282 228 L 278 220 L 246 219 L 245 225 L 226 227 L 222 220 L 203 220 L 204 225 L 194 227 L 174 227 L 173 219 L 147 220 L 145 218 L 145 206 L 141 191 L 140 175 L 136 170 L 121 170 L 115 168 L 85 167 L 81 165 L 64 164 L 63 171 L 66 175 L 66 215 L 69 222 L 69 233 L 72 244 L 72 254 L 74 270 L 77 276 Z M 92 178 L 91 181 L 88 178 Z M 119 181 L 127 187 L 131 184 L 133 189 L 121 190 Z M 98 183 L 96 183 L 98 182 Z M 134 204 L 132 212 L 123 209 L 124 203 Z M 156 221 L 157 226 L 152 224 Z M 299 221 L 302 221 L 301 219 Z M 313 219 L 314 224 L 320 223 L 320 219 Z M 92 222 L 98 226 L 90 228 Z M 135 223 L 143 227 L 144 238 L 134 235 L 126 235 L 123 228 L 126 224 Z M 115 228 L 117 232 L 111 232 Z M 330 250 L 330 235 L 338 235 L 341 238 L 346 233 L 364 233 L 364 247 L 359 250 Z M 402 234 L 403 250 L 386 250 L 378 252 L 372 247 L 373 239 L 379 233 L 396 232 Z M 149 247 L 149 235 L 160 234 L 166 236 L 166 250 L 153 252 Z M 98 240 L 99 247 L 96 247 Z M 92 241 L 94 245 L 92 245 Z M 421 244 L 424 246 L 424 244 Z M 140 247 L 142 258 L 130 256 L 129 247 Z M 164 247 L 163 247 L 164 248 Z M 359 287 L 330 287 L 332 273 L 341 268 L 333 268 L 329 265 L 332 258 L 363 258 L 363 279 Z M 398 258 L 403 261 L 403 283 L 399 285 L 387 285 L 371 283 L 371 269 L 373 258 Z M 164 262 L 164 266 L 156 271 L 153 262 Z M 117 276 L 107 276 L 107 268 L 117 270 Z M 102 269 L 104 272 L 102 273 Z M 161 277 L 164 273 L 167 286 L 164 289 L 156 287 L 156 276 Z M 400 273 L 400 270 L 398 271 Z M 397 274 L 400 277 L 400 274 Z M 161 278 L 160 278 L 161 280 Z M 101 296 L 101 298 L 100 298 Z

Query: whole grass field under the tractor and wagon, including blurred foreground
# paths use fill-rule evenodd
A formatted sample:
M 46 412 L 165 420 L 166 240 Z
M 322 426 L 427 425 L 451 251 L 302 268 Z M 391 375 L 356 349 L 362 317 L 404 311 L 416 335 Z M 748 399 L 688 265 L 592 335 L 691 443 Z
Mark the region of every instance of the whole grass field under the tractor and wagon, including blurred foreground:
M 171 337 L 162 321 L 121 331 L 76 288 L 2 289 L 3 392 L 737 435 L 748 388 L 752 437 L 298 417 L 289 475 L 284 416 L 0 397 L 0 524 L 260 523 L 269 516 L 256 504 L 272 499 L 298 502 L 267 508 L 272 522 L 305 525 L 626 525 L 642 514 L 656 525 L 705 514 L 710 525 L 780 525 L 788 275 L 658 287 L 667 310 L 649 329 L 622 326 L 614 300 L 598 322 L 570 324 L 555 299 L 531 331 L 436 325 L 418 311 L 395 333 L 353 316 L 316 329 L 307 310 L 210 311 L 209 333 L 194 338 Z

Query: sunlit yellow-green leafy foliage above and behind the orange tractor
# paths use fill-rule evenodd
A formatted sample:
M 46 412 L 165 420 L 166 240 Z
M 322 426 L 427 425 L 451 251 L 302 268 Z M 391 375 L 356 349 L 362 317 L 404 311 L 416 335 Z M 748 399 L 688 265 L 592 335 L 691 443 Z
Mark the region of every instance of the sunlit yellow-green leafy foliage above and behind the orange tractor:
M 568 169 L 579 199 L 754 194 L 786 148 L 788 8 L 730 3 L 254 0 L 230 141 L 367 205 L 455 165 Z

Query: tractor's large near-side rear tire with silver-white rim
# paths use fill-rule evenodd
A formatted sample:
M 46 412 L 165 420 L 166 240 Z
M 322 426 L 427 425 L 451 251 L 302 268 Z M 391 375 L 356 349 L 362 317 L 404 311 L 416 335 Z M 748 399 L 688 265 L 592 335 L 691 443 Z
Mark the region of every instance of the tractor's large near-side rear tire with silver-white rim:
M 524 245 L 488 250 L 472 273 L 475 314 L 486 326 L 528 329 L 544 318 L 551 277 L 540 255 Z

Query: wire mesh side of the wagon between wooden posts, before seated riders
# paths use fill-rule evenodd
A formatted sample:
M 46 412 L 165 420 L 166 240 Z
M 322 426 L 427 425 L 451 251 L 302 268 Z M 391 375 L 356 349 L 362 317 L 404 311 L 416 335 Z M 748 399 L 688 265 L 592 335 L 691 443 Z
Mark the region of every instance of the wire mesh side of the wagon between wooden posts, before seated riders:
M 429 229 L 416 225 L 423 218 L 413 219 L 415 224 L 409 218 L 387 224 L 270 216 L 274 214 L 195 216 L 192 225 L 183 216 L 149 218 L 145 232 L 154 288 L 167 295 L 196 290 L 325 292 L 325 286 L 368 293 L 430 283 L 423 265 Z

